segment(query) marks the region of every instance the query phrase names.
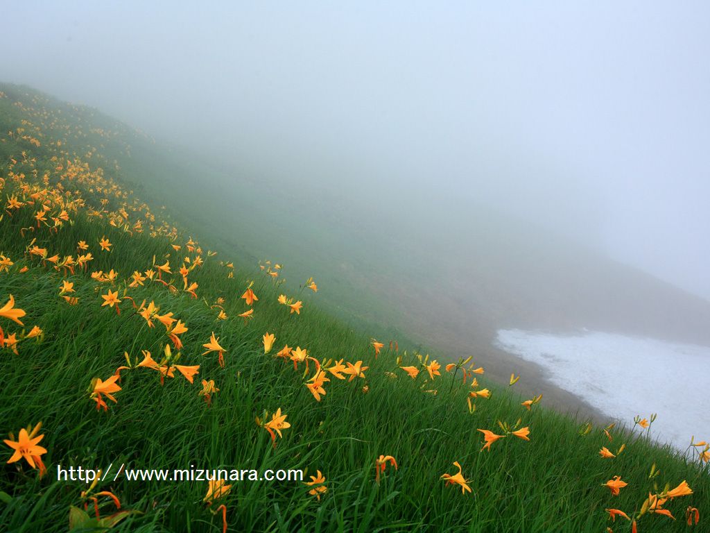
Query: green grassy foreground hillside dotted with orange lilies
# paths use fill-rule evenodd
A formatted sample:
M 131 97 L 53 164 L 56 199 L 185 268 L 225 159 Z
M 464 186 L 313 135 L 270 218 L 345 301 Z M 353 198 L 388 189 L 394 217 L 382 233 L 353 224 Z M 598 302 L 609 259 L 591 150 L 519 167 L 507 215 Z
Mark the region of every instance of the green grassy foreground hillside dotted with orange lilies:
M 320 274 L 317 292 L 304 275 L 284 283 L 288 257 L 261 269 L 260 253 L 193 233 L 189 198 L 173 203 L 168 185 L 156 198 L 121 163 L 140 134 L 23 87 L 0 92 L 0 530 L 630 531 L 608 519 L 618 509 L 640 532 L 673 532 L 689 506 L 704 527 L 704 446 L 685 458 L 640 426 L 605 432 L 545 398 L 527 409 L 525 375 L 496 387 L 476 360 L 447 370 L 380 337 L 386 325 L 347 325 L 321 305 Z M 501 436 L 488 450 L 484 431 Z M 397 468 L 378 479 L 381 456 Z M 79 466 L 103 479 L 58 479 Z M 130 480 L 134 468 L 257 479 L 210 495 L 206 480 Z M 263 479 L 278 469 L 305 476 Z M 628 484 L 618 495 L 605 486 L 615 476 Z M 692 494 L 668 492 L 684 481 Z

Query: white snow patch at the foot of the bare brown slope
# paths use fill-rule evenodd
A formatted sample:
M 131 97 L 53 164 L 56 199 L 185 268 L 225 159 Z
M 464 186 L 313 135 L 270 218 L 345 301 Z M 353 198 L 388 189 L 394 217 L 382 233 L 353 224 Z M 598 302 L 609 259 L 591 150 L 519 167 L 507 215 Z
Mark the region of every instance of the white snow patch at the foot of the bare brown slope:
M 684 451 L 693 435 L 696 442 L 710 441 L 709 347 L 594 331 L 524 330 L 498 330 L 495 344 L 544 367 L 557 387 L 627 427 L 636 415 L 657 413 L 651 436 L 660 442 Z

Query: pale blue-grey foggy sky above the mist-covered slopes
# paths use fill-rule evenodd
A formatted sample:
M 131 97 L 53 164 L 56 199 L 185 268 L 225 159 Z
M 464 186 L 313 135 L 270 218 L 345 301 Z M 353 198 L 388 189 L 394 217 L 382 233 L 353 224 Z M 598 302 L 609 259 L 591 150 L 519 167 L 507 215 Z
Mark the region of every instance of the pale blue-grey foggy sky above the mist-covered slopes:
M 0 80 L 274 181 L 490 205 L 710 298 L 706 2 L 2 4 Z

